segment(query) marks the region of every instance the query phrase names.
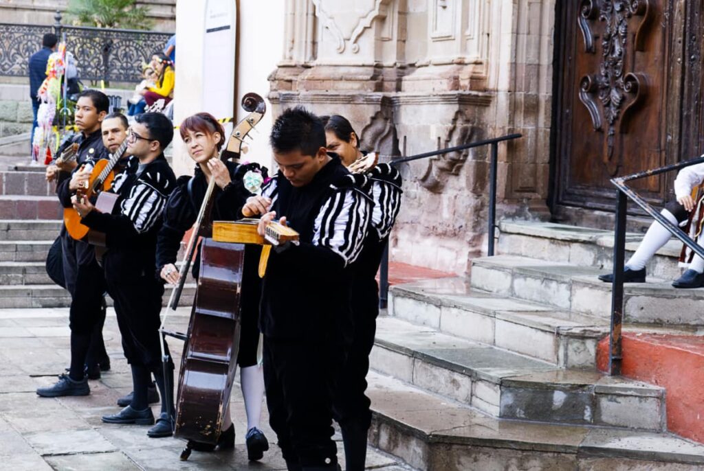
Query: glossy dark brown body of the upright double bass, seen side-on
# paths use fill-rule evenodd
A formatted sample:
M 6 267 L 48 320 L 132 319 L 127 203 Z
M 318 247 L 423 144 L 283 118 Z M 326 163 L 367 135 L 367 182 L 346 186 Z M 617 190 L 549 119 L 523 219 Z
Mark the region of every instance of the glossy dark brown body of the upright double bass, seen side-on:
M 244 245 L 204 238 L 176 401 L 175 437 L 217 444 L 239 348 Z

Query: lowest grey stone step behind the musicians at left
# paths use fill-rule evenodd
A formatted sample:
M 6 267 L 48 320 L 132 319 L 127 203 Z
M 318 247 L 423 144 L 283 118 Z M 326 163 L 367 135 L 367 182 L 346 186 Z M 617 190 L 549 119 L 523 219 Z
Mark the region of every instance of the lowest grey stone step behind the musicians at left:
M 196 285 L 187 283 L 179 300 L 179 306 L 192 306 L 196 294 Z M 166 288 L 163 305 L 168 302 L 171 288 Z M 108 296 L 108 305 L 113 301 Z M 0 309 L 35 308 L 35 307 L 70 307 L 71 297 L 68 291 L 53 285 L 0 285 Z

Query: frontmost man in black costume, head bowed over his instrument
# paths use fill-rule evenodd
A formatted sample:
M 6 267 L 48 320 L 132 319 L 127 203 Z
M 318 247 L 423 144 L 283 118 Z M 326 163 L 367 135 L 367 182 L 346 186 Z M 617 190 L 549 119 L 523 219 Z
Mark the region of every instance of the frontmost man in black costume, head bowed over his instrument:
M 279 166 L 243 214 L 277 215 L 300 233 L 272 250 L 263 279 L 260 330 L 270 424 L 289 470 L 339 470 L 332 396 L 351 341 L 350 265 L 362 250 L 370 201 L 336 156 L 320 119 L 303 108 L 276 120 L 270 143 Z M 364 179 L 364 177 L 362 177 Z

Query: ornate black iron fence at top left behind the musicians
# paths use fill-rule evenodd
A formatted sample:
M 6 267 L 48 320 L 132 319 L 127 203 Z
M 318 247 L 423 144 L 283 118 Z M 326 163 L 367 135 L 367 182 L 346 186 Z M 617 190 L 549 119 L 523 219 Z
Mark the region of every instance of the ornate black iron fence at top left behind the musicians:
M 42 36 L 53 32 L 65 37 L 82 80 L 139 82 L 142 62 L 163 50 L 172 33 L 141 30 L 116 30 L 87 26 L 61 25 L 61 12 L 49 25 L 11 25 L 0 23 L 0 75 L 27 77 L 28 60 L 42 46 Z M 65 35 L 65 36 L 64 36 Z

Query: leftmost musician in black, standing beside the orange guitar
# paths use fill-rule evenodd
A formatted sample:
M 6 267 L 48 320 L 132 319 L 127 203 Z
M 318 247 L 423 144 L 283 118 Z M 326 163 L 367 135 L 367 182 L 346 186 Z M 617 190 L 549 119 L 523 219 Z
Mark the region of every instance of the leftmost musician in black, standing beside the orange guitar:
M 106 122 L 109 105 L 108 97 L 100 91 L 87 90 L 80 94 L 76 103 L 75 122 L 81 133 L 64 143 L 57 153 L 61 155 L 68 146 L 77 143 L 76 160 L 60 164 L 61 168 L 50 165 L 46 170 L 48 180 L 58 181 L 56 193 L 65 208 L 71 207 L 71 196 L 87 181 L 94 162 L 108 157 L 101 136 L 101 125 Z M 120 116 L 122 115 L 111 115 L 107 120 L 109 127 L 125 127 L 122 121 L 124 117 L 120 119 Z M 111 136 L 109 141 L 117 137 Z M 110 369 L 110 359 L 103 342 L 105 279 L 103 270 L 96 262 L 92 245 L 73 240 L 65 226 L 61 228 L 59 240 L 64 288 L 71 295 L 71 364 L 68 373 L 60 375 L 56 384 L 37 389 L 37 394 L 43 397 L 85 396 L 90 394 L 87 380 L 100 378 L 101 369 Z M 52 252 L 54 254 L 58 255 L 57 252 Z

